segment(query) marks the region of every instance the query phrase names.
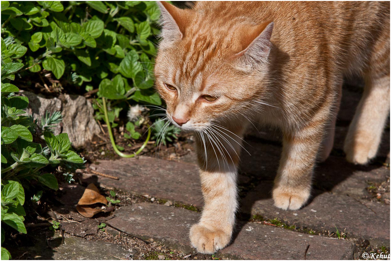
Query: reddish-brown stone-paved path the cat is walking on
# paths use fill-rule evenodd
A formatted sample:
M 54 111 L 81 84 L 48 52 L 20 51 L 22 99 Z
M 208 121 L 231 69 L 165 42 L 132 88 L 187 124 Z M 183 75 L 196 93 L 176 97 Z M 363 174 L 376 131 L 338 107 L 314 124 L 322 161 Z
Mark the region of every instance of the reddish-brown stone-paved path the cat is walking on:
M 386 161 L 387 154 L 389 155 L 389 130 L 384 133 L 375 163 L 368 166 L 347 163 L 341 151 L 359 95 L 345 89 L 343 95 L 332 156 L 325 163 L 317 165 L 312 198 L 307 206 L 298 211 L 283 211 L 274 207 L 270 195 L 281 154 L 280 133 L 268 129 L 249 131 L 245 147 L 252 156 L 245 155 L 246 152 L 242 153 L 239 168 L 240 212 L 237 215 L 235 236 L 231 245 L 219 251 L 217 257 L 357 259 L 362 254 L 359 252 L 362 248 L 356 244 L 363 240 L 368 240 L 371 246 L 389 248 L 389 192 L 380 191 L 380 199 L 377 201 L 373 200 L 373 194 L 367 190 L 370 184 L 380 184 L 387 180 L 389 182 L 390 169 L 381 164 Z M 120 189 L 133 195 L 154 197 L 156 201 L 171 200 L 184 204 L 188 209 L 191 209 L 189 205 L 201 209 L 203 201 L 194 153 L 187 155 L 185 161 L 167 161 L 144 156 L 115 161 L 102 160 L 91 164 L 90 168 L 119 179 L 84 173 L 82 181 L 94 183 L 98 187 Z M 74 194 L 74 198 L 67 199 L 68 202 L 64 202 L 64 206 L 67 211 L 72 212 L 75 210 L 70 206 L 77 202 L 78 195 L 83 193 L 83 190 L 77 186 L 67 189 L 70 194 Z M 199 215 L 196 211 L 180 207 L 144 202 L 123 206 L 114 211 L 113 218 L 100 221 L 108 224 L 107 231 L 110 233 L 118 234 L 120 231 L 143 240 L 152 239 L 170 249 L 188 254 L 194 251 L 188 239 L 188 231 L 190 226 L 197 222 Z M 292 226 L 293 231 L 268 223 L 274 218 L 285 223 L 284 227 Z M 96 220 L 84 222 L 84 234 L 89 233 L 89 229 L 96 230 Z M 70 232 L 72 225 L 75 224 L 68 227 Z M 329 236 L 337 229 L 340 233 L 346 233 L 346 240 Z M 87 244 L 93 248 L 94 244 L 102 242 Z M 79 243 L 76 245 L 70 244 L 68 248 L 62 246 L 63 250 L 59 248 L 59 254 L 54 257 L 76 258 L 66 254 L 73 251 L 72 246 L 77 249 Z M 115 246 L 107 243 L 104 248 L 106 247 L 117 251 Z M 123 254 L 123 251 L 125 250 L 118 250 L 118 253 Z M 110 253 L 108 252 L 108 255 L 111 255 Z M 116 256 L 120 257 L 120 254 Z M 95 256 L 88 258 L 95 259 Z M 99 259 L 112 258 L 101 256 Z

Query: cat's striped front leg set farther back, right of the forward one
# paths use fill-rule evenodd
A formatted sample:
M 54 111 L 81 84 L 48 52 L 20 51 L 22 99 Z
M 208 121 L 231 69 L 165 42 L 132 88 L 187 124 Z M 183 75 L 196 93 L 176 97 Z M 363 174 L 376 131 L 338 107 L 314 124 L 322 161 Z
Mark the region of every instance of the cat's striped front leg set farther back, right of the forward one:
M 310 197 L 311 179 L 325 123 L 315 120 L 294 133 L 285 133 L 282 157 L 274 180 L 274 205 L 300 209 Z

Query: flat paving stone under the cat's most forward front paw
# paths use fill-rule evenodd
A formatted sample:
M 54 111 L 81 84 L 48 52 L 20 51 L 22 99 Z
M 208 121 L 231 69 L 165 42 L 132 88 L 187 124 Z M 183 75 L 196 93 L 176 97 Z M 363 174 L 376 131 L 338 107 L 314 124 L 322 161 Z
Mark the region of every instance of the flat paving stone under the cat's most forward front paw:
M 143 202 L 117 209 L 107 223 L 116 229 L 144 240 L 159 241 L 164 245 L 190 254 L 188 233 L 197 222 L 199 213 Z M 258 223 L 239 222 L 233 243 L 217 252 L 217 257 L 233 259 L 352 259 L 354 245 L 317 235 L 292 232 Z M 333 249 L 333 251 L 330 251 Z

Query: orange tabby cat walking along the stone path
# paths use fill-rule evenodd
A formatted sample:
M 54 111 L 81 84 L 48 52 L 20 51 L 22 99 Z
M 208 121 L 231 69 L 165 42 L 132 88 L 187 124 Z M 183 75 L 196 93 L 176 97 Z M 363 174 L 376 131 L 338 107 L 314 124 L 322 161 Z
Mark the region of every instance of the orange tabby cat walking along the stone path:
M 389 2 L 159 5 L 156 88 L 168 119 L 197 137 L 205 206 L 190 240 L 199 252 L 231 240 L 250 120 L 283 131 L 274 204 L 299 209 L 317 156 L 332 148 L 343 77 L 360 73 L 366 87 L 344 148 L 353 163 L 375 157 L 390 108 Z

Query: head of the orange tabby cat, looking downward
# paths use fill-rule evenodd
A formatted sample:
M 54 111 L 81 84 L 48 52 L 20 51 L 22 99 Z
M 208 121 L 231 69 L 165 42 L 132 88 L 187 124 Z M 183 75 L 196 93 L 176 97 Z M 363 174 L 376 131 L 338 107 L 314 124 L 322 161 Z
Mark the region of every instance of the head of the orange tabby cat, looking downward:
M 267 72 L 273 22 L 219 20 L 219 14 L 167 2 L 159 6 L 156 89 L 169 120 L 185 130 L 203 130 L 258 107 L 265 95 L 259 84 Z

